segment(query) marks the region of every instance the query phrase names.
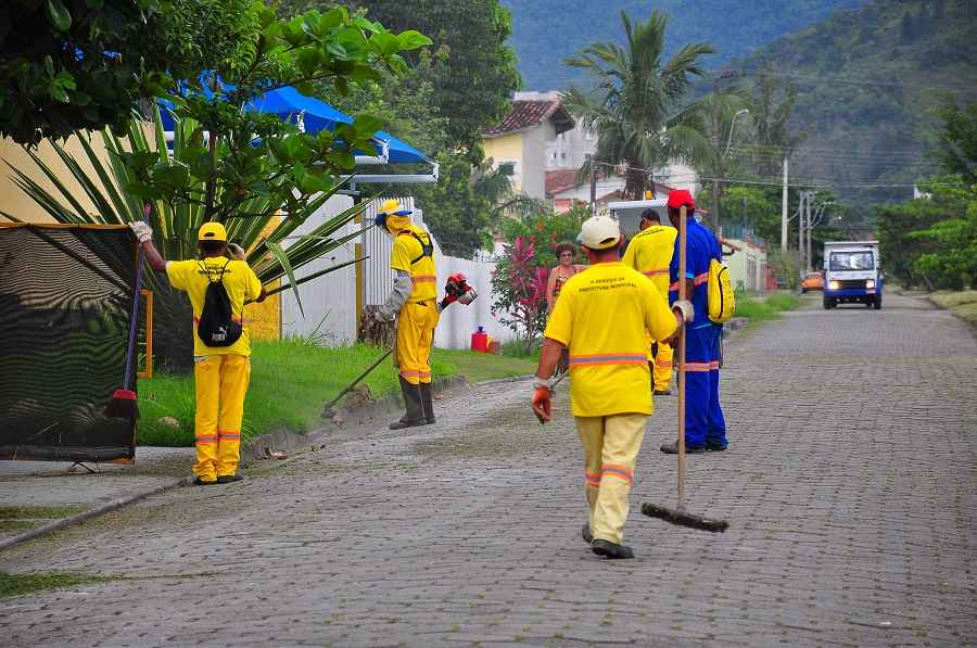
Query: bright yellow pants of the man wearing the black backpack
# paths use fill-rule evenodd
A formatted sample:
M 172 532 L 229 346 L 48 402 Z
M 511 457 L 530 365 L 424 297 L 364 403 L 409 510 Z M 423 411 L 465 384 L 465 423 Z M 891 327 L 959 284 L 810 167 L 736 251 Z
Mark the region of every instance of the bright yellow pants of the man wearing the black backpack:
M 193 366 L 196 390 L 196 463 L 193 474 L 208 482 L 234 474 L 241 459 L 241 420 L 251 379 L 251 358 L 205 356 Z

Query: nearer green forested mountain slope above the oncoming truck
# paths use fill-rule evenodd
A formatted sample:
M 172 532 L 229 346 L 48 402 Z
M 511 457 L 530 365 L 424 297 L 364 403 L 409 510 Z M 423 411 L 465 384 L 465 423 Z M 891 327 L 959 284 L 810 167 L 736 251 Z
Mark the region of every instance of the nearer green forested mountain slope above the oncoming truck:
M 790 123 L 803 143 L 792 177 L 832 183 L 849 202 L 904 200 L 914 181 L 938 170 L 924 155 L 935 109 L 948 98 L 977 101 L 977 3 L 871 0 L 728 67 L 747 87 L 766 68 L 796 89 Z M 781 156 L 734 151 L 750 153 Z

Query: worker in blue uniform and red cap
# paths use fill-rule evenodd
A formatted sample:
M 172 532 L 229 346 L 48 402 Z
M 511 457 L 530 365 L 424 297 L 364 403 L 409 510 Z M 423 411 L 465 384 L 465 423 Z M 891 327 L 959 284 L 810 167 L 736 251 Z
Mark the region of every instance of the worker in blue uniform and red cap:
M 694 214 L 696 201 L 684 189 L 669 192 L 669 220 L 676 228 L 681 221 L 681 208 Z M 685 332 L 685 450 L 703 453 L 726 449 L 726 419 L 719 401 L 720 342 L 723 326 L 709 319 L 707 290 L 709 262 L 722 262 L 722 249 L 709 229 L 695 217 L 686 226 L 686 274 L 678 277 L 678 251 L 681 239 L 675 239 L 675 251 L 669 267 L 669 302 L 678 298 L 678 282 L 685 281 L 686 294 L 695 315 Z M 677 440 L 661 446 L 661 452 L 676 454 Z

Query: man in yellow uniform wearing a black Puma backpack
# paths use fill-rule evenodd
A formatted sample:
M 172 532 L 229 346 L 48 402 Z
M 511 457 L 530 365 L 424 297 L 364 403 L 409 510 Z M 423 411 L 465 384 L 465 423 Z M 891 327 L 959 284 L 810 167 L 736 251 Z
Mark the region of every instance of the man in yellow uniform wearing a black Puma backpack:
M 150 267 L 166 272 L 170 285 L 185 291 L 193 307 L 194 483 L 203 486 L 241 481 L 241 422 L 251 377 L 244 302 L 264 301 L 262 282 L 244 261 L 244 251 L 227 244 L 227 231 L 219 223 L 205 223 L 200 228 L 199 259 L 170 262 L 153 245 L 153 230 L 148 224 L 140 220 L 129 227 L 142 244 Z

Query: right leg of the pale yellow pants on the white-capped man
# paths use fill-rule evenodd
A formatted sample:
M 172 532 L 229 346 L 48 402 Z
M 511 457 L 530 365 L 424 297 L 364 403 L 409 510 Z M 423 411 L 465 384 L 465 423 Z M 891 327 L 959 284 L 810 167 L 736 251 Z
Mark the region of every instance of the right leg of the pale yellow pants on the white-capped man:
M 621 544 L 627 520 L 627 496 L 634 483 L 634 462 L 648 417 L 618 414 L 604 417 L 604 448 L 600 458 L 600 491 L 594 507 L 594 537 Z

